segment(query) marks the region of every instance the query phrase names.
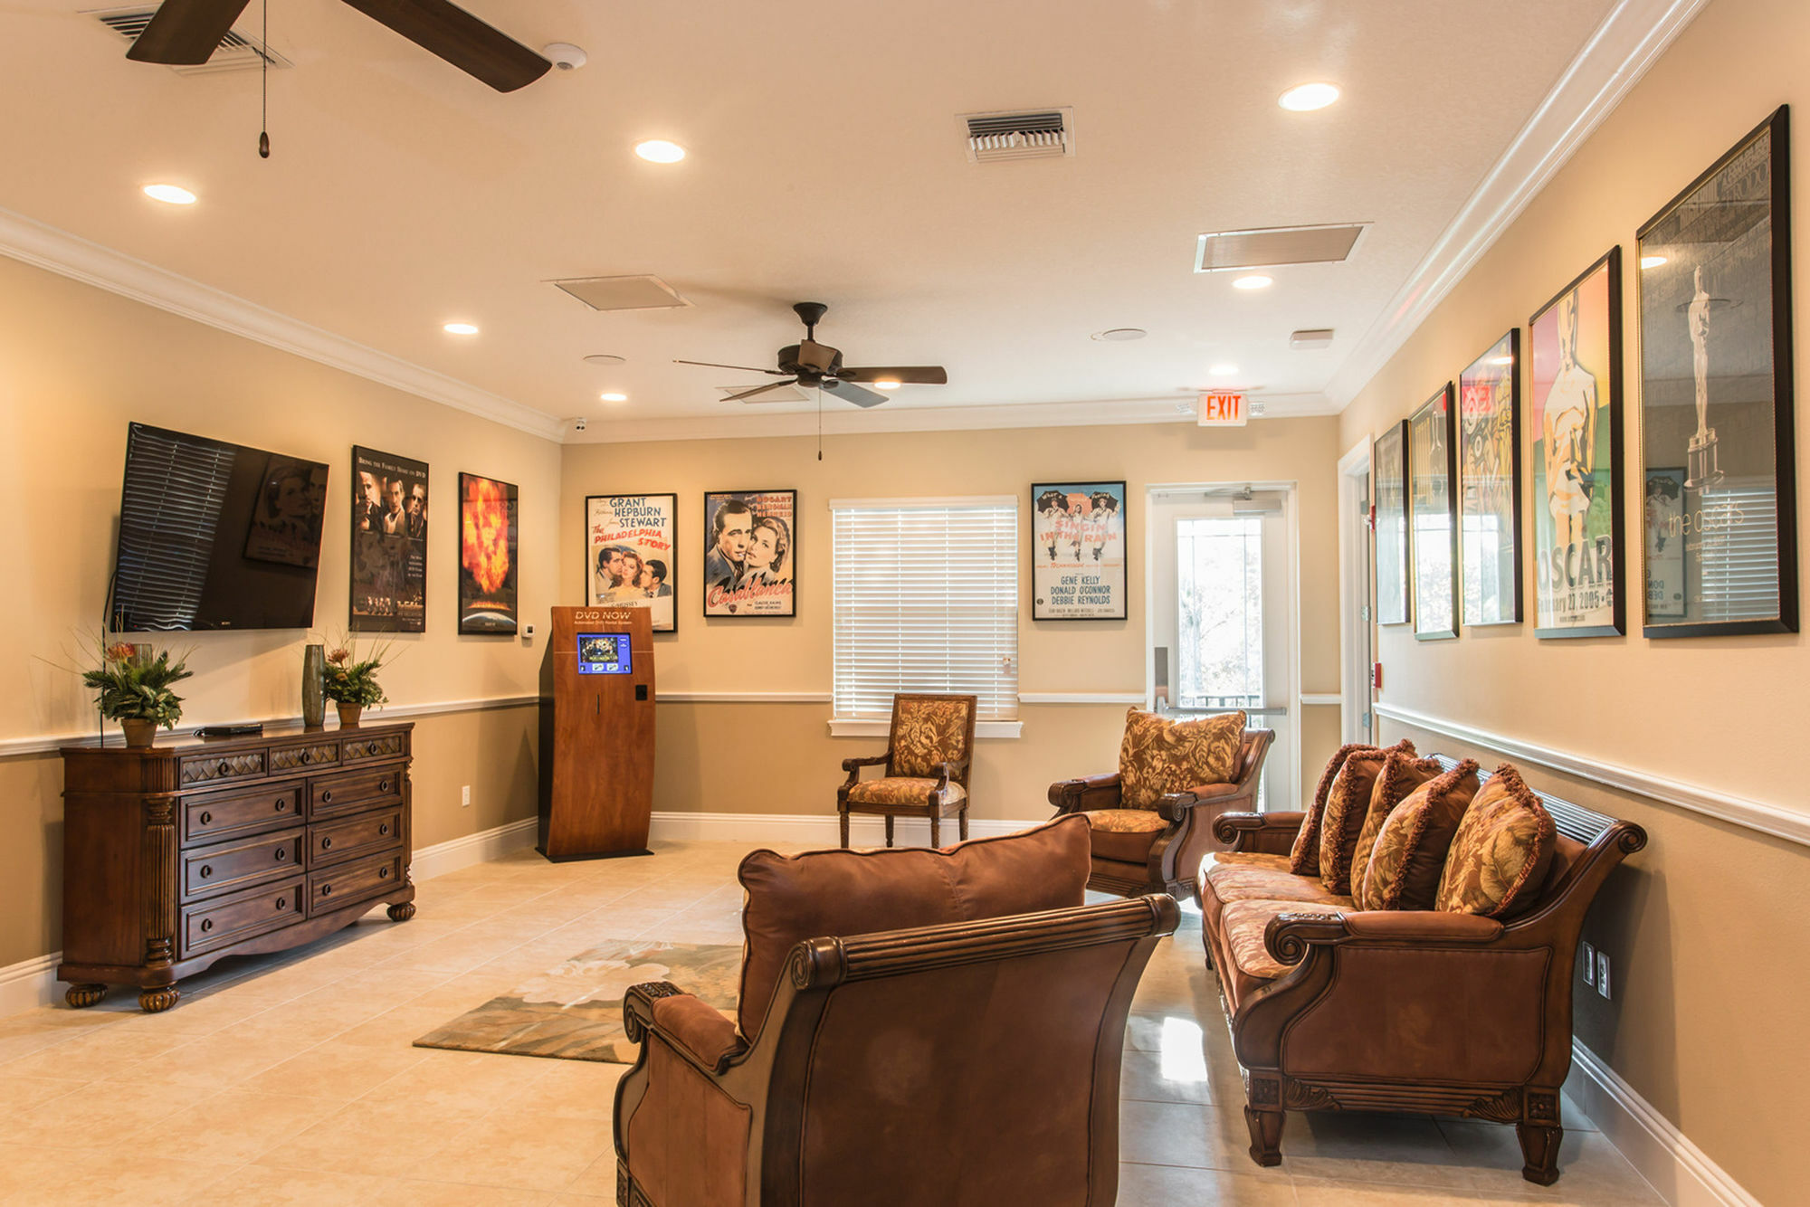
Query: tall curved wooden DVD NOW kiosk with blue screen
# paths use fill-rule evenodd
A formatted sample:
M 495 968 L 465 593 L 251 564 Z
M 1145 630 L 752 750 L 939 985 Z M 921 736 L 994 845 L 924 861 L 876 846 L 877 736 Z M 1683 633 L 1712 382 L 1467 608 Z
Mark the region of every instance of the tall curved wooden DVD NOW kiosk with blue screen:
M 541 823 L 548 860 L 648 851 L 653 613 L 554 608 L 541 661 Z

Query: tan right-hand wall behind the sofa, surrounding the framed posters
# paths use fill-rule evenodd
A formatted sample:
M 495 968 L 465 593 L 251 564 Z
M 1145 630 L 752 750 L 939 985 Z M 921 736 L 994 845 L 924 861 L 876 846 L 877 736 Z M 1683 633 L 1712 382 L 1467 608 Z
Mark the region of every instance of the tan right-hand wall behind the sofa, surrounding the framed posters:
M 1797 161 L 1810 116 L 1810 5 L 1716 0 L 1345 411 L 1339 447 L 1405 418 L 1484 347 L 1526 324 L 1609 246 L 1624 248 L 1629 451 L 1640 447 L 1634 230 L 1781 101 L 1797 107 Z M 1810 349 L 1805 232 L 1810 188 L 1794 179 L 1799 355 Z M 1799 375 L 1799 396 L 1803 396 Z M 1526 440 L 1526 436 L 1524 436 Z M 1801 443 L 1801 440 L 1799 440 Z M 1526 456 L 1526 443 L 1522 445 Z M 1638 454 L 1624 467 L 1627 514 L 1640 516 Z M 1803 467 L 1803 460 L 1799 460 Z M 1797 514 L 1810 518 L 1799 469 Z M 1531 499 L 1524 525 L 1531 523 Z M 1622 546 L 1640 546 L 1638 527 Z M 1533 561 L 1526 550 L 1528 606 Z M 1801 635 L 1647 641 L 1640 565 L 1629 563 L 1631 632 L 1622 639 L 1537 641 L 1533 626 L 1415 642 L 1379 630 L 1383 700 L 1586 758 L 1707 785 L 1779 809 L 1801 791 L 1810 644 Z M 1385 722 L 1394 737 L 1401 726 Z M 1423 749 L 1459 751 L 1421 733 Z M 1587 937 L 1609 952 L 1616 1001 L 1580 997 L 1578 1031 L 1649 1102 L 1750 1193 L 1799 1202 L 1810 1151 L 1810 945 L 1776 937 L 1810 876 L 1810 849 L 1645 798 L 1577 785 L 1538 767 L 1529 780 L 1647 827 L 1595 908 Z M 1560 1183 L 1564 1185 L 1564 1183 Z

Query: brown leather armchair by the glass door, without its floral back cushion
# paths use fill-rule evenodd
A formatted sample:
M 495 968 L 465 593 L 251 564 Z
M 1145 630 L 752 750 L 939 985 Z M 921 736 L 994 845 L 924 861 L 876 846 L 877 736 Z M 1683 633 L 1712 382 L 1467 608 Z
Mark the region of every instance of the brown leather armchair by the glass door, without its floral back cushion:
M 1213 836 L 1224 813 L 1256 809 L 1256 785 L 1274 729 L 1245 729 L 1238 773 L 1231 784 L 1209 784 L 1171 793 L 1155 809 L 1122 809 L 1119 773 L 1062 780 L 1050 785 L 1057 816 L 1079 813 L 1093 825 L 1093 874 L 1088 889 L 1135 898 L 1167 892 L 1195 896 L 1195 870 L 1209 851 L 1225 845 Z

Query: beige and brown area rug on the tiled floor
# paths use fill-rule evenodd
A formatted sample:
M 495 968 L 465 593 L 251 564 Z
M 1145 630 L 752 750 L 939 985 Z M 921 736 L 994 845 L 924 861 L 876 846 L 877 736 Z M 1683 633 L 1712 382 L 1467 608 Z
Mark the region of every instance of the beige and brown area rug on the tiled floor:
M 717 1010 L 735 1010 L 740 974 L 738 945 L 605 943 L 422 1035 L 414 1046 L 634 1064 L 641 1044 L 623 1033 L 628 986 L 672 981 Z

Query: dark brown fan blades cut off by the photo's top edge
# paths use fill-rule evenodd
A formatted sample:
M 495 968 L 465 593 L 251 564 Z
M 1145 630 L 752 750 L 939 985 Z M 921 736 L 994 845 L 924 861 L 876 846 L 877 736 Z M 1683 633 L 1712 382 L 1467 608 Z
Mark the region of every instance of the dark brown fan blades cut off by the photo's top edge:
M 163 0 L 127 58 L 141 63 L 205 63 L 250 0 Z M 498 92 L 534 83 L 550 62 L 447 0 L 346 0 L 431 54 Z

